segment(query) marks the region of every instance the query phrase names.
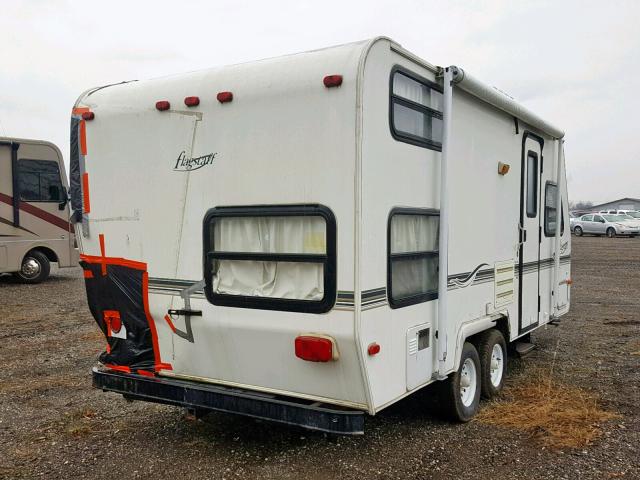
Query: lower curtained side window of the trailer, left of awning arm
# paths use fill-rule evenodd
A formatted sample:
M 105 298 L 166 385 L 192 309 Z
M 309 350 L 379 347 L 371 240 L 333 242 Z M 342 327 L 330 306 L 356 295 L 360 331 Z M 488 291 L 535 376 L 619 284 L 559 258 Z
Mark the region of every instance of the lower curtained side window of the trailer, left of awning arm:
M 388 226 L 387 291 L 392 308 L 438 297 L 437 210 L 394 209 Z

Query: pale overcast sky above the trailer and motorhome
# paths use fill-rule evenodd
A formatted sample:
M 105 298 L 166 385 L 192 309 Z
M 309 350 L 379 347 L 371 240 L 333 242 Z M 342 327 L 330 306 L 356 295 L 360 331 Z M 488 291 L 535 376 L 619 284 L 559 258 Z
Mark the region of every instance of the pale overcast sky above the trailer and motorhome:
M 87 88 L 377 35 L 562 127 L 571 199 L 640 198 L 640 1 L 2 0 L 0 135 L 68 162 Z

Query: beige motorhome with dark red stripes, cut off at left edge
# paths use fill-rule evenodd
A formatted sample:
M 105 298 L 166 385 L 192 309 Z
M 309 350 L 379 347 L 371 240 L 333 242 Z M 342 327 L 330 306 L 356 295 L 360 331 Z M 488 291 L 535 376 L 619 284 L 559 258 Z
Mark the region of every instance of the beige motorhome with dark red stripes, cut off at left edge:
M 67 199 L 58 147 L 0 137 L 0 273 L 39 283 L 49 276 L 52 262 L 78 265 Z

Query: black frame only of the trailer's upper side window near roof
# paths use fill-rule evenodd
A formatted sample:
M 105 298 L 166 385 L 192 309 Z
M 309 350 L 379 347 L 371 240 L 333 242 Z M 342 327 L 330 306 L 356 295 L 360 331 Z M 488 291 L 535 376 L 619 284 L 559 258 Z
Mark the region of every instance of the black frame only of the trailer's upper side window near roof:
M 444 89 L 436 82 L 428 80 L 405 67 L 402 67 L 400 65 L 394 65 L 393 68 L 391 69 L 391 74 L 389 76 L 389 129 L 391 130 L 391 136 L 399 142 L 408 143 L 410 145 L 416 145 L 418 147 L 428 148 L 429 150 L 435 150 L 436 152 L 441 152 L 442 142 L 434 142 L 432 140 L 427 140 L 423 137 L 418 137 L 410 133 L 396 130 L 395 123 L 394 123 L 394 113 L 393 113 L 393 107 L 396 103 L 404 107 L 410 108 L 412 110 L 416 110 L 420 113 L 430 115 L 431 117 L 439 118 L 440 120 L 444 121 L 443 112 L 434 110 L 433 108 L 429 108 L 426 105 L 413 102 L 407 98 L 401 97 L 399 95 L 395 95 L 393 93 L 393 79 L 397 73 L 400 73 L 401 75 L 405 75 L 406 77 L 409 77 L 411 80 L 421 83 L 424 86 L 444 95 Z

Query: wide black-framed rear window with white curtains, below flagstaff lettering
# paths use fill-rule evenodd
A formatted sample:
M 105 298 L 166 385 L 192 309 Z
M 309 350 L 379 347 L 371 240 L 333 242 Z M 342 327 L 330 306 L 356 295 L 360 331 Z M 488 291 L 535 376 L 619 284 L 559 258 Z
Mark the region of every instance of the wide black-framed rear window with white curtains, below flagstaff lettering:
M 329 311 L 336 227 L 319 205 L 227 207 L 205 217 L 205 293 L 215 305 Z

